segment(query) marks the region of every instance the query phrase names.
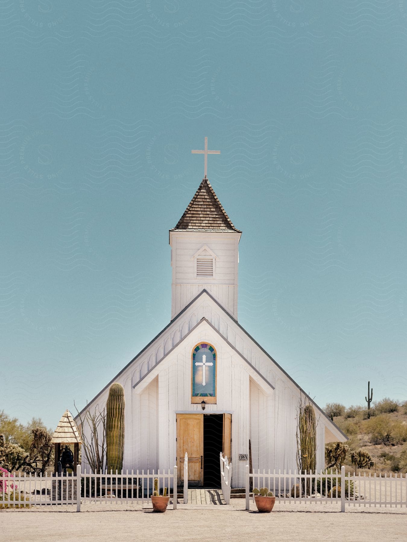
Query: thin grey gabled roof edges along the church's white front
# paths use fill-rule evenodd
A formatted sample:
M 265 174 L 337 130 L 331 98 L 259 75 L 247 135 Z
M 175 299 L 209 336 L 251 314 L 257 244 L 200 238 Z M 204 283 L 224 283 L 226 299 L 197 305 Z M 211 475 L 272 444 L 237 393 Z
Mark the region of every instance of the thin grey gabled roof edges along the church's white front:
M 152 339 L 152 340 L 149 342 L 149 344 L 146 345 L 146 346 L 143 348 L 143 350 L 141 350 L 141 351 L 137 354 L 137 356 L 135 356 L 135 357 L 134 357 L 134 358 L 133 358 L 126 366 L 125 366 L 125 367 L 123 367 L 123 369 L 122 369 L 122 370 L 121 370 L 114 378 L 112 378 L 112 380 L 109 382 L 109 384 L 107 384 L 107 385 L 103 388 L 103 390 L 101 390 L 101 391 L 98 393 L 97 396 L 93 397 L 92 401 L 90 401 L 90 403 L 88 403 L 88 404 L 87 404 L 87 405 L 79 412 L 77 418 L 79 417 L 79 415 L 82 414 L 82 412 L 84 412 L 84 411 L 88 408 L 89 405 L 91 405 L 91 404 L 93 403 L 93 401 L 94 401 L 95 399 L 97 399 L 97 398 L 99 397 L 99 395 L 100 395 L 101 393 L 103 393 L 107 388 L 109 388 L 110 384 L 112 384 L 113 382 L 117 382 L 117 379 L 119 378 L 119 376 L 122 375 L 122 373 L 123 373 L 123 372 L 124 372 L 124 371 L 125 371 L 125 370 L 133 363 L 133 362 L 135 362 L 135 360 L 136 360 L 137 358 L 139 358 L 140 356 L 142 356 L 142 354 L 148 349 L 148 347 L 149 347 L 150 345 L 152 345 L 152 343 L 154 343 L 154 341 L 155 341 L 156 339 L 158 339 L 158 337 L 160 337 L 160 335 L 161 335 L 164 331 L 166 331 L 167 328 L 168 328 L 171 324 L 173 324 L 176 320 L 178 320 L 178 319 L 179 319 L 179 318 L 180 318 L 180 317 L 181 317 L 181 316 L 189 309 L 189 307 L 190 307 L 196 300 L 198 300 L 203 294 L 206 294 L 206 295 L 207 295 L 207 296 L 208 296 L 208 297 L 209 297 L 209 298 L 210 298 L 210 299 L 211 299 L 211 300 L 212 300 L 212 301 L 213 301 L 213 302 L 214 302 L 214 303 L 215 303 L 215 304 L 216 304 L 216 305 L 217 305 L 217 306 L 218 306 L 218 307 L 219 307 L 219 308 L 220 308 L 220 309 L 221 309 L 221 310 L 222 310 L 222 311 L 223 311 L 223 312 L 224 312 L 224 313 L 225 313 L 225 314 L 226 314 L 226 315 L 234 322 L 234 324 L 236 324 L 236 325 L 241 329 L 241 331 L 243 331 L 243 332 L 247 335 L 247 337 L 249 337 L 249 339 L 251 339 L 251 340 L 253 341 L 253 343 L 255 343 L 256 346 L 259 347 L 259 349 L 260 349 L 260 350 L 261 350 L 261 351 L 262 351 L 262 352 L 263 352 L 263 353 L 264 353 L 264 354 L 265 354 L 265 355 L 266 355 L 266 356 L 267 356 L 267 357 L 268 357 L 268 358 L 269 358 L 269 359 L 270 359 L 270 360 L 278 367 L 278 369 L 281 370 L 281 371 L 284 373 L 284 375 L 287 376 L 287 377 L 291 380 L 291 382 L 292 382 L 293 384 L 295 384 L 295 386 L 296 386 L 297 389 L 301 392 L 301 394 L 302 394 L 304 397 L 307 397 L 308 400 L 309 400 L 309 402 L 310 402 L 311 404 L 313 404 L 313 405 L 321 412 L 321 414 L 328 420 L 329 424 L 332 424 L 332 425 L 335 427 L 335 429 L 338 430 L 339 433 L 340 433 L 341 435 L 343 435 L 343 436 L 346 438 L 346 440 L 348 440 L 348 437 L 347 437 L 347 435 L 345 435 L 344 431 L 342 431 L 342 429 L 340 429 L 340 428 L 338 427 L 338 425 L 336 425 L 336 423 L 333 422 L 327 414 L 325 414 L 325 412 L 323 411 L 323 409 L 315 403 L 314 399 L 313 399 L 312 397 L 310 397 L 310 396 L 308 395 L 308 393 L 307 393 L 306 391 L 304 391 L 304 390 L 301 388 L 301 386 L 299 386 L 299 385 L 295 382 L 294 378 L 291 378 L 290 375 L 289 375 L 286 371 L 284 371 L 283 367 L 281 367 L 280 365 L 278 365 L 278 363 L 276 362 L 276 360 L 273 359 L 273 358 L 270 356 L 270 354 L 269 354 L 268 352 L 266 352 L 266 351 L 264 350 L 264 348 L 263 348 L 262 346 L 260 346 L 259 343 L 258 343 L 255 339 L 253 339 L 253 337 L 250 335 L 250 333 L 247 333 L 247 331 L 245 330 L 245 328 L 244 328 L 243 326 L 241 326 L 241 325 L 239 324 L 239 322 L 238 322 L 236 319 L 234 319 L 233 316 L 232 316 L 230 313 L 228 313 L 228 312 L 226 311 L 225 307 L 223 307 L 223 306 L 220 304 L 220 302 L 219 302 L 217 299 L 215 299 L 215 298 L 213 297 L 213 295 L 211 295 L 206 289 L 203 289 L 198 295 L 196 295 L 196 296 L 194 297 L 194 299 L 192 299 L 192 300 L 188 303 L 188 305 L 186 305 L 186 306 L 182 309 L 182 311 L 179 312 L 179 313 L 176 315 L 176 317 L 173 318 L 173 320 L 171 320 L 171 321 L 169 322 L 169 324 L 167 324 L 167 326 L 164 327 L 164 328 L 160 331 L 160 333 L 158 333 L 158 334 L 154 337 L 154 339 Z M 206 320 L 206 319 L 204 319 L 204 320 Z M 206 320 L 206 321 L 207 321 L 207 320 Z M 200 323 L 200 322 L 198 322 L 198 324 L 199 324 L 199 323 Z M 208 324 L 211 325 L 211 327 L 213 327 L 213 325 L 210 324 L 210 322 L 208 322 Z M 213 328 L 214 328 L 214 327 L 213 327 Z M 214 328 L 214 330 L 217 331 L 216 328 Z M 222 338 L 225 339 L 225 337 L 223 337 L 223 336 L 222 336 Z M 181 339 L 180 342 L 181 342 L 182 340 L 183 340 L 183 339 Z M 225 339 L 225 340 L 226 340 L 226 339 Z M 227 341 L 227 342 L 228 342 L 228 341 Z M 177 343 L 177 344 L 179 344 L 179 343 Z M 232 346 L 232 345 L 231 345 L 231 346 Z M 236 349 L 234 348 L 234 346 L 232 346 L 232 348 L 233 348 L 234 350 L 236 350 Z M 172 350 L 172 349 L 171 349 L 171 350 Z M 239 351 L 237 351 L 237 353 L 239 354 L 240 357 L 243 357 L 242 354 L 241 354 Z M 164 356 L 164 357 L 167 357 L 167 356 Z M 161 358 L 161 359 L 163 359 L 163 358 Z M 244 358 L 244 359 L 245 359 L 245 358 Z M 161 360 L 160 360 L 160 361 L 161 361 Z M 154 367 L 156 367 L 156 366 L 160 363 L 160 361 L 158 361 L 158 362 L 154 365 Z M 247 361 L 247 360 L 245 359 L 245 361 Z M 249 361 L 247 361 L 247 363 L 248 363 L 251 367 L 253 367 L 253 369 L 255 369 L 255 367 L 254 367 Z M 255 370 L 256 370 L 256 372 L 258 372 L 257 369 L 255 369 Z M 264 380 L 266 380 L 265 377 L 264 377 L 263 375 L 260 375 L 260 376 L 261 376 Z M 139 382 L 141 382 L 141 381 L 142 381 L 142 379 L 139 380 L 139 381 L 136 383 L 136 385 L 133 386 L 133 388 L 136 388 L 136 387 L 137 387 L 137 384 L 138 384 Z M 267 382 L 267 380 L 266 380 L 266 382 Z M 271 384 L 269 383 L 269 385 L 271 385 Z M 271 386 L 271 387 L 273 387 L 273 386 Z

